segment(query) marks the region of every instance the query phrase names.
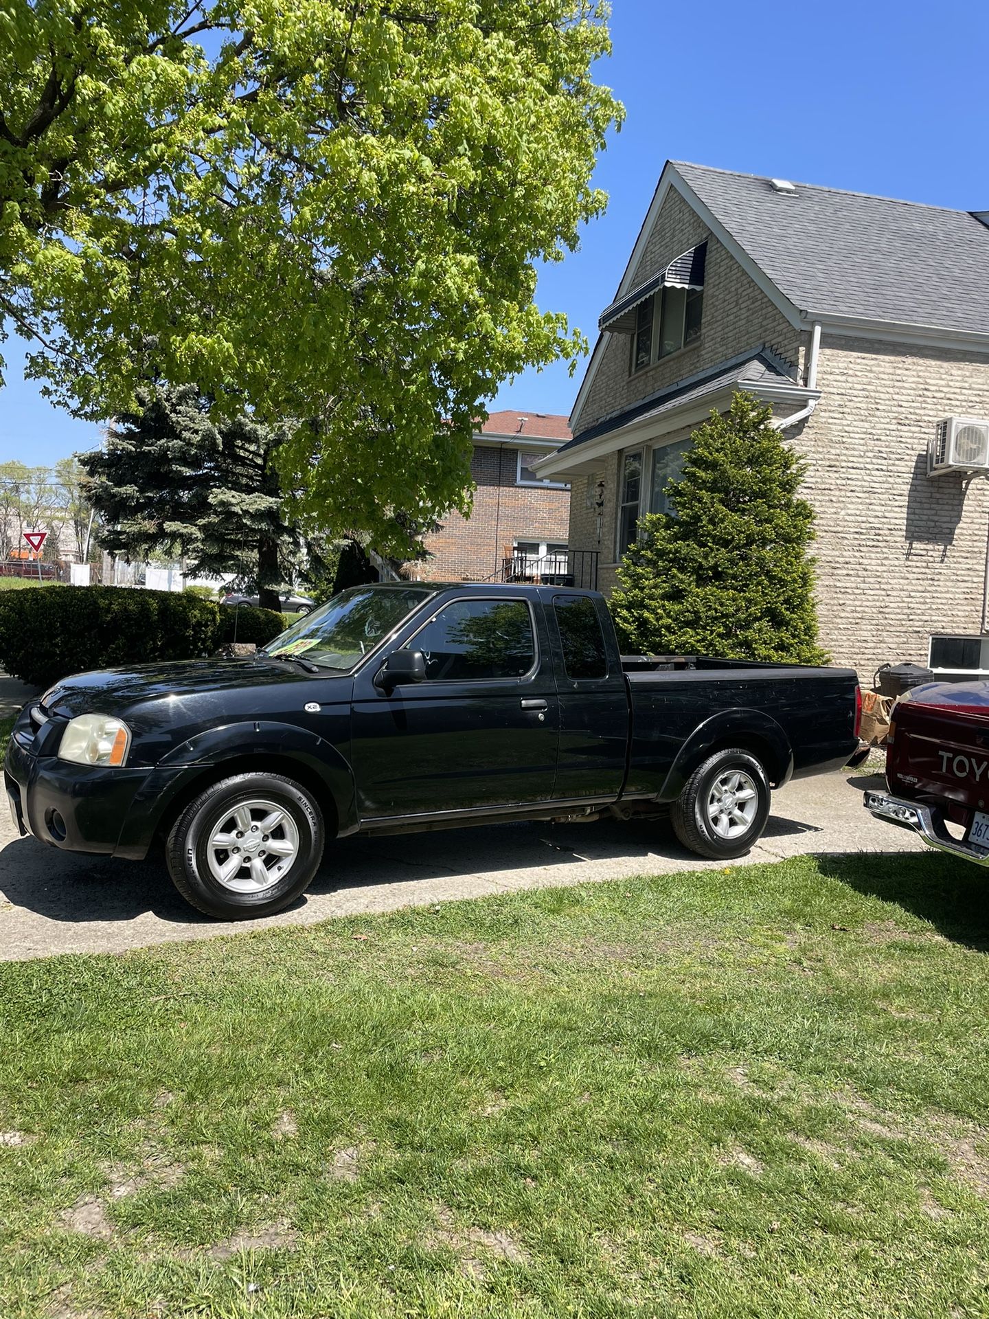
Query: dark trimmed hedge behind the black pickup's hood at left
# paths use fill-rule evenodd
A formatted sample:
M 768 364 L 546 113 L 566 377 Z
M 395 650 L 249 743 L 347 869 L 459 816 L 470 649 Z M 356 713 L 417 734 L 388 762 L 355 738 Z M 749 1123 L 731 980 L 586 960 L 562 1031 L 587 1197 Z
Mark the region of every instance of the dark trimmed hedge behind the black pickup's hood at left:
M 113 665 L 208 656 L 232 636 L 233 611 L 177 591 L 112 586 L 38 587 L 0 598 L 0 665 L 22 682 L 46 687 L 70 673 Z M 282 617 L 269 609 L 237 623 L 237 640 L 270 641 Z

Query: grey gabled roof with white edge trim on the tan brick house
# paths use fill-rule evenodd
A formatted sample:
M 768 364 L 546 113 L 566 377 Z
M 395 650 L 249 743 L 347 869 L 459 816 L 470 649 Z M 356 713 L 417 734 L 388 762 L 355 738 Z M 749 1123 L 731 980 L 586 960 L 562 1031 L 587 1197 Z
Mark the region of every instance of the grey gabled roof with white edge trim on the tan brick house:
M 674 189 L 798 330 L 989 352 L 989 212 L 848 193 L 667 161 L 614 302 Z M 578 422 L 612 334 L 599 335 L 570 414 Z

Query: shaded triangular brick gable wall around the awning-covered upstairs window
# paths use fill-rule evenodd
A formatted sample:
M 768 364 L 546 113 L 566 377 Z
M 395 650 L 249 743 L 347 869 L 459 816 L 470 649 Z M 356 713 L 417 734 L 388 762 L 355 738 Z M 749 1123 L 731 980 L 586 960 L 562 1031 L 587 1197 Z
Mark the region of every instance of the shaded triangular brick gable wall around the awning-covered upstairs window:
M 674 189 L 666 194 L 632 286 L 658 274 L 680 252 L 704 239 L 708 240 L 708 247 L 699 339 L 679 352 L 662 357 L 649 369 L 630 376 L 630 336 L 613 334 L 584 406 L 574 419 L 575 433 L 624 412 L 678 380 L 764 343 L 786 361 L 800 367 L 808 335 L 794 330 Z

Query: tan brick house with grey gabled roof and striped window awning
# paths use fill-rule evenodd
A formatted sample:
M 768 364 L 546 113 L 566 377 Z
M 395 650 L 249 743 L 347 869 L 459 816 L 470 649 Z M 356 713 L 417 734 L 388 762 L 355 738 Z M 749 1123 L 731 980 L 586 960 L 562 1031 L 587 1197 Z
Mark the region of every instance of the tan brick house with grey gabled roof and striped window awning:
M 599 584 L 663 510 L 694 427 L 744 388 L 807 462 L 822 641 L 989 670 L 989 214 L 666 164 L 578 394 L 538 463 L 572 483 Z M 964 422 L 963 422 L 964 427 Z M 957 429 L 957 423 L 953 429 Z M 965 442 L 968 447 L 965 447 Z

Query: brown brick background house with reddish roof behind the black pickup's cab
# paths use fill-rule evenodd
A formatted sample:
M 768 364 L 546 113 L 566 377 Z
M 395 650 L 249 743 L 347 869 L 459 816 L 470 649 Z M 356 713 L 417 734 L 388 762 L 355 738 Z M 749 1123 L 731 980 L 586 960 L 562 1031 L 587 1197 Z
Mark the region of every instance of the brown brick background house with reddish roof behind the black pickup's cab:
M 426 538 L 430 557 L 410 563 L 409 576 L 421 582 L 494 580 L 505 571 L 505 561 L 529 576 L 564 570 L 570 479 L 537 475 L 531 464 L 570 438 L 566 417 L 492 413 L 473 441 L 471 476 L 477 488 L 469 518 L 451 513 L 443 528 Z

